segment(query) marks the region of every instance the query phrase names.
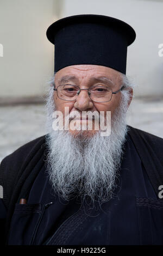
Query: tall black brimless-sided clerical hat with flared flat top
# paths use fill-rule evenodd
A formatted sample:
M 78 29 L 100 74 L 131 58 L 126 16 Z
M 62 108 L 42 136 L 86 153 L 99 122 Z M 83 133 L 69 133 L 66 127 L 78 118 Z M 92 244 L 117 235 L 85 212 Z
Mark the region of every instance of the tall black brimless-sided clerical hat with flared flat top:
M 47 29 L 47 38 L 55 45 L 55 72 L 66 66 L 92 64 L 126 74 L 127 46 L 135 37 L 126 22 L 93 14 L 65 17 Z

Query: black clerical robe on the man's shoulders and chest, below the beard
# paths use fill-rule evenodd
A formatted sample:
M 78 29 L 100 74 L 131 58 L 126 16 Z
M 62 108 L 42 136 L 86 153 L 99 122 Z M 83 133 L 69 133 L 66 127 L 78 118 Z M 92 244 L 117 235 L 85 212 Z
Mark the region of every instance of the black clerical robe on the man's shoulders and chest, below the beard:
M 53 194 L 45 136 L 5 157 L 0 201 L 7 244 L 162 245 L 163 200 L 158 194 L 163 185 L 163 139 L 129 129 L 115 196 L 98 210 Z M 20 198 L 27 204 L 18 204 Z

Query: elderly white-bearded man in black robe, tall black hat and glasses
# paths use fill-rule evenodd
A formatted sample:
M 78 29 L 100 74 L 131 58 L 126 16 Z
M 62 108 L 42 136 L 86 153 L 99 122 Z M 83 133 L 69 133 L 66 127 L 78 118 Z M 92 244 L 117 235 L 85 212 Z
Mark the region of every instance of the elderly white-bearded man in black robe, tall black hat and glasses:
M 47 135 L 1 163 L 5 243 L 162 244 L 163 141 L 126 124 L 134 29 L 77 15 L 54 22 L 47 37 L 55 45 Z

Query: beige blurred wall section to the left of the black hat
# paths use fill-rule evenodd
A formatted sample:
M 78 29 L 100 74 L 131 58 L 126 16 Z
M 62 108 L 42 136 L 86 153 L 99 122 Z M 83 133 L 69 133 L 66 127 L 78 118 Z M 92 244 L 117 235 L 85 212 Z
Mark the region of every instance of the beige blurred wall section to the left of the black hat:
M 54 48 L 46 30 L 59 18 L 61 2 L 0 0 L 1 102 L 42 99 L 54 65 Z

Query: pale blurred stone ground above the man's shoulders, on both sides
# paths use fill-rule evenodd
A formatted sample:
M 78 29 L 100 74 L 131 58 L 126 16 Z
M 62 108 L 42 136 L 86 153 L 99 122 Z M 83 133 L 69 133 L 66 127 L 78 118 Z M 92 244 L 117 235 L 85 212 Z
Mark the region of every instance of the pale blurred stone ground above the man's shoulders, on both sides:
M 0 107 L 0 162 L 21 145 L 45 135 L 46 111 L 43 104 Z M 128 109 L 127 124 L 163 138 L 163 99 L 134 98 Z

